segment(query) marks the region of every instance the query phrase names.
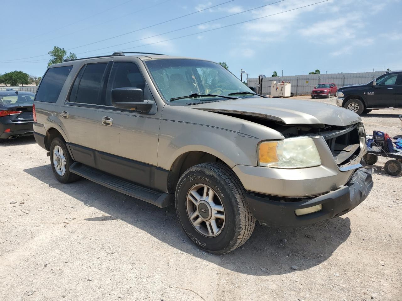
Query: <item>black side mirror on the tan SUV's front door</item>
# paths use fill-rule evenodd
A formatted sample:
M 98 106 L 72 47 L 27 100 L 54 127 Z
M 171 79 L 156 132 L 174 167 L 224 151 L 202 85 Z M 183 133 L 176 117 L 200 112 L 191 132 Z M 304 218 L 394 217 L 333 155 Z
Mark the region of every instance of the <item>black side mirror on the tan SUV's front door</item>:
M 149 112 L 154 104 L 144 100 L 144 92 L 139 88 L 116 88 L 112 90 L 112 106 L 119 109 Z

